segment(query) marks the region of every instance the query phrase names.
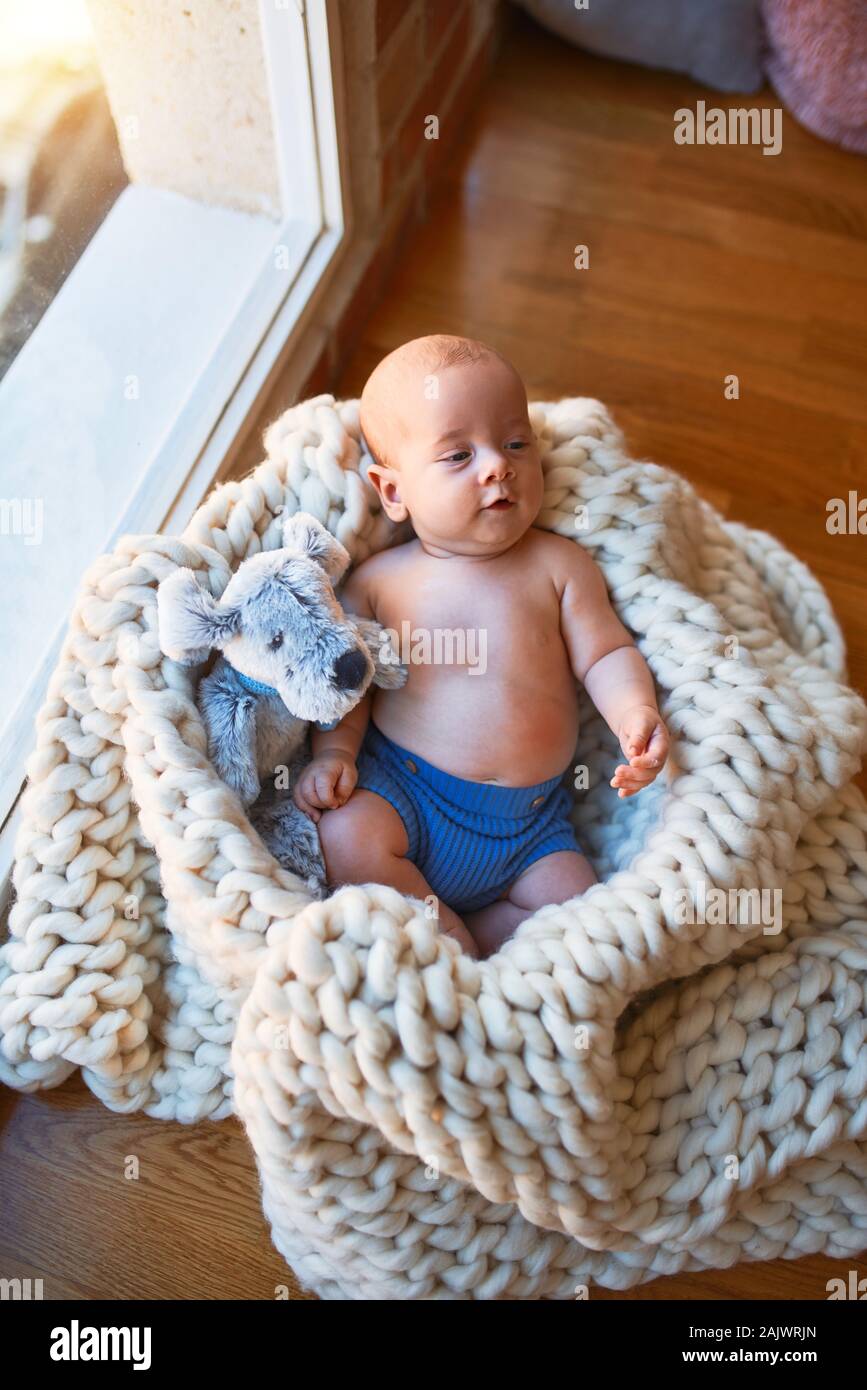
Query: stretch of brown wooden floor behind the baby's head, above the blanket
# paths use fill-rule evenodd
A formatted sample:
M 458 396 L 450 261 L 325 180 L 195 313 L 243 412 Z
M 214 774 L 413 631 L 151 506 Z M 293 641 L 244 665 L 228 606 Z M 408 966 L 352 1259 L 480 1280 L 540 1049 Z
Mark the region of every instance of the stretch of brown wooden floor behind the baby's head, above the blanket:
M 816 570 L 864 689 L 867 538 L 828 535 L 825 503 L 867 498 L 867 161 L 788 115 L 778 156 L 678 146 L 672 113 L 699 97 L 775 104 L 577 53 L 518 17 L 338 391 L 358 395 L 408 338 L 459 332 L 504 352 L 531 400 L 599 398 L 634 456 Z

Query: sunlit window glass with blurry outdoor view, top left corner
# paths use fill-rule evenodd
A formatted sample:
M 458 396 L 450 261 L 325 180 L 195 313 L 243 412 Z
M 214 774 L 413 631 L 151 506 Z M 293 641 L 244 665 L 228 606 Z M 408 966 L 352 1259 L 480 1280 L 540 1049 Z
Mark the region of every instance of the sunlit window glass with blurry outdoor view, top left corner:
M 126 182 L 85 0 L 0 0 L 0 378 Z

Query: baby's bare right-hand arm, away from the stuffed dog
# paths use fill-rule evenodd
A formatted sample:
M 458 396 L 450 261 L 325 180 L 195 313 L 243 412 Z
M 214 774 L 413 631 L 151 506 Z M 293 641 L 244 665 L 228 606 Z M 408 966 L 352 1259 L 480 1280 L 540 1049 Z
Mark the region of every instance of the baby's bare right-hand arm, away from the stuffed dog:
M 631 796 L 653 781 L 668 756 L 653 676 L 611 607 L 602 570 L 579 545 L 567 542 L 560 580 L 561 631 L 572 671 L 629 759 L 616 769 L 611 787 Z

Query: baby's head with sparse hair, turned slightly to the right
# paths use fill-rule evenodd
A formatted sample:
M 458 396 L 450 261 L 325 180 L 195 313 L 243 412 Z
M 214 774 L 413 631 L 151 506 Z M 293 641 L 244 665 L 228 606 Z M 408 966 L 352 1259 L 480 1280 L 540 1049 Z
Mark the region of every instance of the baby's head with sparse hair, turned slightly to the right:
M 534 524 L 543 481 L 527 392 L 493 348 L 449 334 L 396 348 L 364 385 L 361 430 L 385 512 L 411 517 L 425 546 L 495 555 Z

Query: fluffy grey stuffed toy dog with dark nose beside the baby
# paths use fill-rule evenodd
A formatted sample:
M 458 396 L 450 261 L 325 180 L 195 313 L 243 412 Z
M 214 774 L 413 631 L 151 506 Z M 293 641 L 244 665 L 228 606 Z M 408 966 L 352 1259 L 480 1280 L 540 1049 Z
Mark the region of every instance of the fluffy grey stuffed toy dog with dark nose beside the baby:
M 379 623 L 345 613 L 335 598 L 350 563 L 315 517 L 296 512 L 283 548 L 245 560 L 220 600 L 186 569 L 157 591 L 165 656 L 196 666 L 221 653 L 197 692 L 214 767 L 253 808 L 275 859 L 317 897 L 325 888 L 318 831 L 292 799 L 310 760 L 310 723 L 333 726 L 371 682 L 397 688 L 407 678 Z

